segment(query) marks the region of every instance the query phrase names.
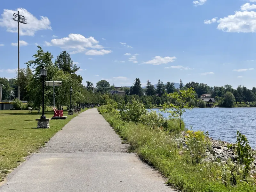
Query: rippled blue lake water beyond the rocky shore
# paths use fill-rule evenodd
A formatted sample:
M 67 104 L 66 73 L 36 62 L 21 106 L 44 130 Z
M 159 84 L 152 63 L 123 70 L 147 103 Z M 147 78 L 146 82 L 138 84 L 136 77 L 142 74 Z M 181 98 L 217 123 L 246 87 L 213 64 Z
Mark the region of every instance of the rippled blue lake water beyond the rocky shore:
M 152 109 L 168 117 L 159 109 Z M 208 131 L 210 137 L 231 143 L 236 142 L 236 131 L 246 135 L 252 148 L 256 148 L 256 108 L 194 108 L 186 111 L 182 119 L 186 127 Z

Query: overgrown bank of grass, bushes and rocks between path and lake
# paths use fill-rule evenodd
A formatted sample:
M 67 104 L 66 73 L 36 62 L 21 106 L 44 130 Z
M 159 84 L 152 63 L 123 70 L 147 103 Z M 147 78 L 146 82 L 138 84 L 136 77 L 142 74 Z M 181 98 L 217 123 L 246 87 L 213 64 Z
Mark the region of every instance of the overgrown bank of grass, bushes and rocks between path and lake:
M 186 130 L 180 119 L 147 112 L 138 100 L 125 105 L 105 99 L 100 114 L 132 151 L 167 178 L 168 185 L 184 192 L 256 191 L 255 151 L 241 133 L 231 145 L 212 140 L 208 133 Z

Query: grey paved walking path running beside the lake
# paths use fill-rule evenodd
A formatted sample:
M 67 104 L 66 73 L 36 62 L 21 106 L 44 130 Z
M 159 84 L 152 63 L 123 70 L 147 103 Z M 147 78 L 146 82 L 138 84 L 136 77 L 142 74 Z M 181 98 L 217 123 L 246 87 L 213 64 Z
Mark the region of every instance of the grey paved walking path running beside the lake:
M 97 109 L 89 109 L 16 168 L 0 192 L 173 191 L 127 148 Z

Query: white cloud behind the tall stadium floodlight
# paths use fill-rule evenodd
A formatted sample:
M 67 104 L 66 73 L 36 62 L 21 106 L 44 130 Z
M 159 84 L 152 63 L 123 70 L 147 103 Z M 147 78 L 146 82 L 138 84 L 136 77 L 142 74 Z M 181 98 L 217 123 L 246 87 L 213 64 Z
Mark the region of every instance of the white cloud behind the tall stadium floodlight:
M 0 19 L 0 26 L 6 28 L 6 31 L 11 33 L 18 33 L 18 24 L 13 21 L 13 13 L 18 13 L 27 19 L 27 24 L 21 24 L 20 35 L 34 36 L 35 32 L 38 30 L 52 29 L 51 22 L 47 17 L 41 16 L 40 20 L 36 19 L 34 15 L 28 12 L 26 9 L 18 8 L 17 10 L 4 9 L 2 13 L 2 18 Z

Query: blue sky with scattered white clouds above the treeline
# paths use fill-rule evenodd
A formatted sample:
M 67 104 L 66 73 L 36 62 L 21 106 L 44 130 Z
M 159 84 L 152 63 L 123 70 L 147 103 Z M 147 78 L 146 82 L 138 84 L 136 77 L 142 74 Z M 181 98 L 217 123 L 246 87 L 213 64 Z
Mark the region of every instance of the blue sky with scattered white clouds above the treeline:
M 127 86 L 139 77 L 143 86 L 148 79 L 156 84 L 181 78 L 184 84 L 252 88 L 254 4 L 256 0 L 3 1 L 0 76 L 16 76 L 18 35 L 12 14 L 19 9 L 28 23 L 20 24 L 21 68 L 39 44 L 54 60 L 62 50 L 72 53 L 84 84 L 106 79 Z

